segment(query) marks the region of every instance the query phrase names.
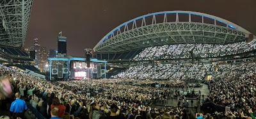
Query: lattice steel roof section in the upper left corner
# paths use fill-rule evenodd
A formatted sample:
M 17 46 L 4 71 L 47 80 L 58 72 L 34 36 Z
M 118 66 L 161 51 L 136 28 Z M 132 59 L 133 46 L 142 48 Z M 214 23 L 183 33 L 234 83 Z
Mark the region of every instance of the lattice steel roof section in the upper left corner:
M 0 44 L 22 47 L 33 0 L 0 1 Z

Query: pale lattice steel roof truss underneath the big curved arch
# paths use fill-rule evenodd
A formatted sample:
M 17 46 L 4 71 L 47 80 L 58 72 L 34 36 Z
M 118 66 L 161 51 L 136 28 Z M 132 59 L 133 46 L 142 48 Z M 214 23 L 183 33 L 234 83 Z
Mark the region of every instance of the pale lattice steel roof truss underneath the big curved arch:
M 112 36 L 96 52 L 122 52 L 165 44 L 232 44 L 246 40 L 236 29 L 195 22 L 165 22 Z

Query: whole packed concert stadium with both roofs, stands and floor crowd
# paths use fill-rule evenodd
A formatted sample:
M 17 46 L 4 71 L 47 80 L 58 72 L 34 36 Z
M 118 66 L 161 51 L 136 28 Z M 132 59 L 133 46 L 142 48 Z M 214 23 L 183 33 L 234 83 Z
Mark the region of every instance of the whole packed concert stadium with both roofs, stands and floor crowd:
M 190 11 L 137 17 L 104 36 L 92 58 L 49 58 L 50 67 L 56 59 L 79 72 L 94 72 L 86 70 L 94 61 L 105 75 L 51 81 L 29 74 L 38 69 L 22 50 L 32 1 L 1 2 L 0 118 L 256 116 L 256 37 L 228 20 Z

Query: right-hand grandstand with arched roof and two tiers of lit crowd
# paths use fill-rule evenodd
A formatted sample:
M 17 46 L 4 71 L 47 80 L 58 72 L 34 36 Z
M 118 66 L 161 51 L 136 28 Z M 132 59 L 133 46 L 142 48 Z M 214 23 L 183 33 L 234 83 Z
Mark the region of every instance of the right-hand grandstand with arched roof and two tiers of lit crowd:
M 158 12 L 121 24 L 93 51 L 95 58 L 111 65 L 111 78 L 202 80 L 220 65 L 255 63 L 253 38 L 246 29 L 216 16 Z

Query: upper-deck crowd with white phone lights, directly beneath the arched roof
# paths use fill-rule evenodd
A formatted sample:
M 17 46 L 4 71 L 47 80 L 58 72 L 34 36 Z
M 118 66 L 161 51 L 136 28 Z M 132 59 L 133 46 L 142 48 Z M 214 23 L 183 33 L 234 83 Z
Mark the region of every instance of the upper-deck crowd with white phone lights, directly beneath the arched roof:
M 227 45 L 218 44 L 175 44 L 147 47 L 134 56 L 135 61 L 154 59 L 179 58 L 214 58 L 253 51 L 256 49 L 256 39 L 252 42 L 239 42 Z

